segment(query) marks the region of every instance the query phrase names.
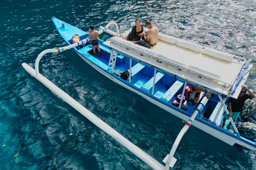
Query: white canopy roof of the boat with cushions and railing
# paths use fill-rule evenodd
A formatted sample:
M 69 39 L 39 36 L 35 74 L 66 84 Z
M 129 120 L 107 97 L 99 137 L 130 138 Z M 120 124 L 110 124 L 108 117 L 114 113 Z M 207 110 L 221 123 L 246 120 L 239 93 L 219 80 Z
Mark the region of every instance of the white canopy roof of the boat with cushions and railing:
M 144 28 L 145 29 L 145 28 Z M 126 32 L 124 34 L 128 34 Z M 112 37 L 105 45 L 179 79 L 215 94 L 228 95 L 246 59 L 159 33 L 159 41 L 151 49 Z M 249 65 L 247 70 L 252 67 Z M 244 75 L 240 83 L 248 77 Z M 241 88 L 237 88 L 240 92 Z M 239 92 L 233 94 L 237 98 Z

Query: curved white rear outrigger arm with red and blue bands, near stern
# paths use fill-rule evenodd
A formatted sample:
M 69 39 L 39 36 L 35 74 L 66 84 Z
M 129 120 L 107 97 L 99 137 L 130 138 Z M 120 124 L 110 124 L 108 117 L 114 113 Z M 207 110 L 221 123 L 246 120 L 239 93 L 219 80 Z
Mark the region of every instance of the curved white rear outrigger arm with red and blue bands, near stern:
M 177 161 L 176 158 L 173 157 L 181 138 L 183 137 L 183 135 L 186 133 L 186 131 L 188 130 L 188 128 L 190 127 L 190 125 L 192 124 L 192 122 L 195 120 L 197 114 L 199 113 L 198 111 L 200 111 L 202 109 L 203 104 L 205 103 L 207 100 L 207 97 L 204 97 L 203 100 L 201 101 L 201 103 L 198 105 L 197 109 L 195 110 L 195 112 L 192 114 L 192 116 L 190 117 L 190 119 L 188 120 L 188 122 L 186 123 L 186 125 L 181 129 L 179 135 L 177 136 L 175 142 L 173 143 L 172 149 L 170 151 L 170 154 L 166 155 L 166 157 L 164 158 L 163 162 L 166 163 L 165 164 L 165 170 L 168 170 L 169 167 L 173 167 L 175 162 Z

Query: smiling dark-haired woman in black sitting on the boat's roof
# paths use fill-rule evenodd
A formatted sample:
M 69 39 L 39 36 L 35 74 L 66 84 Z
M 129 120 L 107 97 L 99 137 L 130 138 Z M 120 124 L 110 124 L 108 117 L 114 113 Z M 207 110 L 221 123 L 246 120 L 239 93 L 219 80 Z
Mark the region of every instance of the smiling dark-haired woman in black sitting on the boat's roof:
M 124 40 L 127 41 L 139 41 L 141 33 L 143 32 L 143 27 L 140 25 L 140 19 L 135 20 L 135 26 L 132 27 L 132 31 L 128 34 L 128 36 L 124 37 L 124 35 L 120 35 Z

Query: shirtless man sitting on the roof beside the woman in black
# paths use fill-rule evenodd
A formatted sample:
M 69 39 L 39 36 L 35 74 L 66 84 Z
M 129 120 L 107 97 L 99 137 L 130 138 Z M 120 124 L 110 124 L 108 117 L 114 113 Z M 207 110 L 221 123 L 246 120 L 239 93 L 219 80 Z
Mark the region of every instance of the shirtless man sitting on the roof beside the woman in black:
M 158 42 L 158 28 L 153 27 L 150 20 L 146 21 L 146 26 L 148 27 L 148 29 L 150 29 L 149 31 L 146 31 L 147 36 L 145 36 L 144 33 L 141 34 L 146 42 L 149 42 L 151 45 L 154 45 Z

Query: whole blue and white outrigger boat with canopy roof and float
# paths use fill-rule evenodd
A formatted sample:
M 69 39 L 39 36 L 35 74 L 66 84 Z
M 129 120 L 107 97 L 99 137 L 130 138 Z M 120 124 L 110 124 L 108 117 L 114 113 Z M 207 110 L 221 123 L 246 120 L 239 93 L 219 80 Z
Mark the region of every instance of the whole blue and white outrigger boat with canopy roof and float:
M 227 99 L 238 97 L 241 85 L 245 83 L 253 68 L 253 65 L 246 58 L 161 33 L 158 37 L 159 42 L 148 49 L 119 38 L 119 30 L 115 22 L 110 22 L 106 27 L 101 27 L 100 34 L 106 32 L 114 37 L 106 42 L 99 40 L 103 56 L 99 57 L 96 53 L 96 57 L 94 57 L 88 39 L 89 36 L 86 32 L 55 17 L 52 17 L 52 20 L 59 34 L 69 45 L 41 52 L 36 59 L 35 69 L 26 63 L 22 63 L 22 66 L 32 76 L 153 169 L 167 170 L 169 167 L 173 167 L 177 160 L 173 157 L 176 148 L 190 125 L 229 145 L 237 143 L 256 150 L 255 141 L 248 140 L 239 134 L 236 128 L 239 123 L 234 123 L 232 119 L 229 120 L 232 123 L 233 131 L 227 130 L 226 126 L 224 128 L 219 127 L 222 123 L 223 113 L 227 110 Z M 116 32 L 108 29 L 110 25 L 116 26 Z M 131 29 L 123 34 L 126 36 L 130 31 Z M 144 28 L 144 31 L 148 31 L 148 29 Z M 72 44 L 74 35 L 79 35 L 81 41 Z M 44 54 L 61 52 L 70 48 L 73 48 L 83 60 L 112 81 L 187 122 L 177 136 L 170 153 L 163 160 L 166 163 L 165 166 L 129 142 L 39 73 L 39 61 Z M 129 77 L 132 76 L 132 78 L 124 80 L 120 77 L 120 74 L 126 70 L 129 71 Z M 180 98 L 183 99 L 187 83 L 204 89 L 204 92 L 211 92 L 215 96 L 210 99 L 203 97 L 200 103 L 192 106 L 187 105 L 185 101 L 184 105 L 186 105 L 187 110 L 181 108 L 182 102 L 177 107 L 172 105 L 173 101 L 177 99 L 177 93 L 181 94 Z M 200 98 L 202 98 L 202 95 Z M 202 117 L 205 112 L 210 112 L 209 119 Z M 226 125 L 229 121 L 226 121 Z

